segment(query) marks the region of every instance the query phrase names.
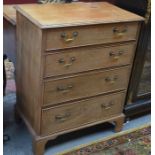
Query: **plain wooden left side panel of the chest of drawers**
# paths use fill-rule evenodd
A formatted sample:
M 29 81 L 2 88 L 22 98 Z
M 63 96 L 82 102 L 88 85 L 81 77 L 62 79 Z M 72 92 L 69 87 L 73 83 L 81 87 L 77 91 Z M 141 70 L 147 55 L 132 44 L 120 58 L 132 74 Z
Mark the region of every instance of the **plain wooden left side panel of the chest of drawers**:
M 42 32 L 17 12 L 17 106 L 30 125 L 40 130 Z

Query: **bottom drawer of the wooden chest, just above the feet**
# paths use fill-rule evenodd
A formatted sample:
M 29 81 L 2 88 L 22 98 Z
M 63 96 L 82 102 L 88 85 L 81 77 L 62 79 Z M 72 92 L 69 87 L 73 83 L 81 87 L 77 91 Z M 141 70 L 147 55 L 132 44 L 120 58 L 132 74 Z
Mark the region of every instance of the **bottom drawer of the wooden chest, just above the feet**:
M 42 110 L 41 133 L 49 134 L 105 120 L 122 113 L 125 93 L 101 95 Z

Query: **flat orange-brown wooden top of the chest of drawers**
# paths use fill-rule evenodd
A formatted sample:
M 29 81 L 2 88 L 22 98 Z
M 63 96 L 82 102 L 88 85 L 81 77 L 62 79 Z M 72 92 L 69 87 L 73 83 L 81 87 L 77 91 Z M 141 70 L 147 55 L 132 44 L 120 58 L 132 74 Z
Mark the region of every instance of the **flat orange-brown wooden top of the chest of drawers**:
M 16 9 L 40 28 L 143 20 L 107 2 L 18 5 Z

